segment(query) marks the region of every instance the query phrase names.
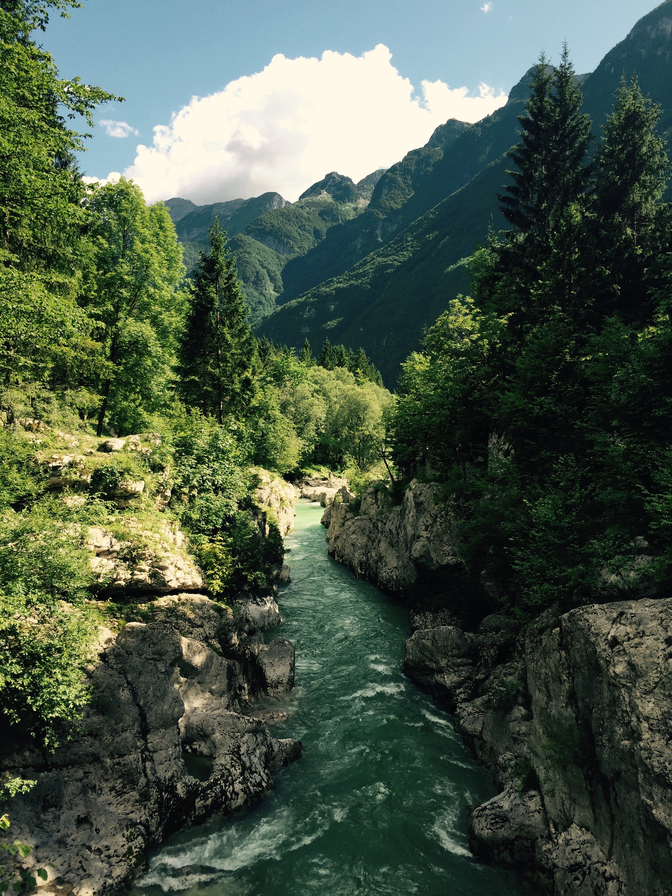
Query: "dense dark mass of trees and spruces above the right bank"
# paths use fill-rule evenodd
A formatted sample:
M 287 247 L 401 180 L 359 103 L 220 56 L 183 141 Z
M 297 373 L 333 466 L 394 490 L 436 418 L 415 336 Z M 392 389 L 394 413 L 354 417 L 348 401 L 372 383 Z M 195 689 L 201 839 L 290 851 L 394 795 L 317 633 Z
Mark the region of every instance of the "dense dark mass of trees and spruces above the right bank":
M 580 100 L 566 54 L 542 59 L 504 197 L 516 227 L 471 258 L 473 297 L 426 332 L 391 419 L 402 478 L 444 482 L 473 580 L 530 614 L 669 574 L 659 112 L 623 85 L 590 165 Z

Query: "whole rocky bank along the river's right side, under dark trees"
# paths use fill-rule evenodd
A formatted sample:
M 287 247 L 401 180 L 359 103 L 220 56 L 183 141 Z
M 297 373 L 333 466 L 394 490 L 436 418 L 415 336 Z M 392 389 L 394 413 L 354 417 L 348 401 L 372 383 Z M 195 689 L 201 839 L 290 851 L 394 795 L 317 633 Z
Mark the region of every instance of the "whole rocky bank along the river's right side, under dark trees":
M 501 793 L 470 814 L 475 855 L 555 896 L 672 892 L 672 599 L 547 611 L 521 627 L 465 599 L 440 489 L 331 504 L 329 550 L 416 601 L 404 670 L 446 703 Z M 452 596 L 454 599 L 452 599 Z

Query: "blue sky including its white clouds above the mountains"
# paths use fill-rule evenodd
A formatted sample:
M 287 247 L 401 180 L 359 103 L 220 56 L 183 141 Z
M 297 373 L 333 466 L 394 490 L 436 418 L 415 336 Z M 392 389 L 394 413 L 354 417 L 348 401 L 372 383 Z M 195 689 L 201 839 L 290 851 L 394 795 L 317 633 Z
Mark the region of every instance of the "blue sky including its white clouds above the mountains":
M 81 168 L 148 201 L 295 201 L 478 121 L 541 50 L 592 71 L 655 0 L 84 0 L 43 46 L 99 108 Z

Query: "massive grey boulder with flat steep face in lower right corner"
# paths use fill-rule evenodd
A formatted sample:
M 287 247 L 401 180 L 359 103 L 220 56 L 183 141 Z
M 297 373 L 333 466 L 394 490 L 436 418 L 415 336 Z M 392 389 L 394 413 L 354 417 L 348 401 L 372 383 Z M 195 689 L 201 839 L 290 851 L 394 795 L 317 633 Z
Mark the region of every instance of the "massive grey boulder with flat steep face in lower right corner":
M 504 787 L 471 815 L 473 851 L 537 866 L 556 896 L 668 896 L 672 599 L 549 610 L 513 657 L 515 626 L 504 623 L 418 630 L 407 648 L 409 674 L 443 690 Z M 523 779 L 538 789 L 521 796 Z

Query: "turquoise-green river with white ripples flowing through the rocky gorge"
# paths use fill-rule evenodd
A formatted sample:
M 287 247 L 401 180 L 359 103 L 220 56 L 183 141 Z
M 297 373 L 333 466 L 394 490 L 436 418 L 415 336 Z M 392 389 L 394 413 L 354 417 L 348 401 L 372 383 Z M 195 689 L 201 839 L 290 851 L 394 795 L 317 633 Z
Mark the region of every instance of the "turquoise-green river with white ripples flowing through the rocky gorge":
M 521 896 L 470 855 L 467 807 L 495 790 L 451 717 L 401 674 L 408 607 L 332 561 L 322 513 L 298 504 L 270 633 L 297 649 L 289 716 L 271 730 L 304 755 L 251 811 L 162 844 L 133 896 Z

